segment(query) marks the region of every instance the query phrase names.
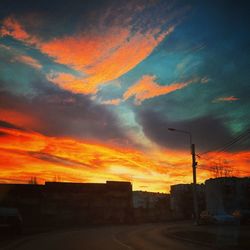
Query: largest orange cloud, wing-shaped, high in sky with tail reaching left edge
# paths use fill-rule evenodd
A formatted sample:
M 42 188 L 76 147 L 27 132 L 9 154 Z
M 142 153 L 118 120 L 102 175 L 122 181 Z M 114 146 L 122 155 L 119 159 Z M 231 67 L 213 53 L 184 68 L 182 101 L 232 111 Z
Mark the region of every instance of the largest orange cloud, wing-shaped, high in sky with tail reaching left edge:
M 96 93 L 98 86 L 119 78 L 147 58 L 171 32 L 152 28 L 142 33 L 132 26 L 115 24 L 102 32 L 82 32 L 73 36 L 42 41 L 29 34 L 14 18 L 3 21 L 1 36 L 12 36 L 28 45 L 35 45 L 56 62 L 81 72 L 84 77 L 59 73 L 52 82 L 75 93 Z M 50 76 L 48 76 L 50 77 Z

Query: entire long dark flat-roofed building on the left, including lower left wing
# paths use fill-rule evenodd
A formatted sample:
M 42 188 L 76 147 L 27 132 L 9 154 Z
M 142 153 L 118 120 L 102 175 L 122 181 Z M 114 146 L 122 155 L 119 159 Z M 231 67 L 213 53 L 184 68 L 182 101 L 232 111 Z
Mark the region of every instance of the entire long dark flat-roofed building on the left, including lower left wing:
M 17 208 L 24 224 L 130 222 L 130 182 L 0 184 L 0 206 Z

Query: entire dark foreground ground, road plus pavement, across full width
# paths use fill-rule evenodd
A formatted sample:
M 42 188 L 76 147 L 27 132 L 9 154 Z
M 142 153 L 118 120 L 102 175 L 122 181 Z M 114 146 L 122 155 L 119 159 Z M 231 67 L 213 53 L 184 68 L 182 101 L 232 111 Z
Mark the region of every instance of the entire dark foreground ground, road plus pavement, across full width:
M 5 239 L 16 250 L 250 249 L 249 226 L 194 226 L 188 222 L 57 229 Z

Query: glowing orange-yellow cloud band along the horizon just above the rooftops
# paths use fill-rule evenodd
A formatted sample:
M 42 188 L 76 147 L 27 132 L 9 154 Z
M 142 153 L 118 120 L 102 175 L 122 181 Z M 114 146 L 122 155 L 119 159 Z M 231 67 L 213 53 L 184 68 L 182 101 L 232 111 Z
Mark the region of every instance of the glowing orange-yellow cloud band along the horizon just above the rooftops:
M 53 138 L 38 133 L 0 128 L 0 180 L 27 182 L 36 176 L 40 182 L 62 181 L 105 182 L 121 180 L 133 182 L 134 189 L 166 192 L 176 183 L 192 181 L 189 152 L 163 150 L 153 147 L 142 152 L 98 142 Z M 214 158 L 212 153 L 209 157 Z M 250 152 L 221 155 L 247 171 Z M 199 167 L 211 166 L 198 159 Z M 198 181 L 212 176 L 207 169 L 198 169 Z M 245 173 L 245 176 L 247 173 Z

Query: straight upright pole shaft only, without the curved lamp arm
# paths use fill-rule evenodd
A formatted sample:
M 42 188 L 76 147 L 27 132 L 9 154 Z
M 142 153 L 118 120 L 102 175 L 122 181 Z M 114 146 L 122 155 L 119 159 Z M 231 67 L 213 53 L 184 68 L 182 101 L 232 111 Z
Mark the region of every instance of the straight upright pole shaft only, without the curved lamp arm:
M 196 225 L 199 224 L 199 208 L 198 208 L 198 197 L 197 197 L 197 184 L 196 184 L 196 157 L 195 157 L 195 144 L 191 144 L 192 154 L 192 169 L 193 169 L 193 202 L 194 202 L 194 222 Z

